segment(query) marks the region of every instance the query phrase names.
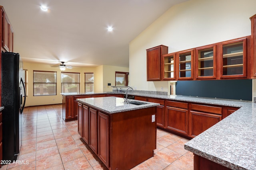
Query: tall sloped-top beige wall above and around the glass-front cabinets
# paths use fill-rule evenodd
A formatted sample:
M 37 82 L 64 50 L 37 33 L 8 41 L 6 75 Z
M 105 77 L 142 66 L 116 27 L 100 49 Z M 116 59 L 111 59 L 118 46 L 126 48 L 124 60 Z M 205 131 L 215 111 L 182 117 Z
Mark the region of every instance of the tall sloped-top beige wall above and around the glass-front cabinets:
M 190 0 L 173 6 L 130 42 L 130 86 L 167 92 L 167 82 L 146 81 L 146 49 L 166 45 L 172 53 L 251 35 L 255 6 L 255 0 Z

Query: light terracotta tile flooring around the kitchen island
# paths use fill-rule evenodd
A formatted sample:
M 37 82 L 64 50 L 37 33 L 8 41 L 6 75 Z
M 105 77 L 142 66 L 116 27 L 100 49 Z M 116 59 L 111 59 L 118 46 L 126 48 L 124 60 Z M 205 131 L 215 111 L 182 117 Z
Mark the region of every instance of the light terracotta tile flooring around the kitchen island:
M 3 165 L 0 170 L 106 169 L 80 141 L 77 121 L 62 121 L 61 104 L 26 107 L 23 122 L 19 162 Z M 187 141 L 158 129 L 154 157 L 132 170 L 192 170 L 193 154 L 184 149 Z

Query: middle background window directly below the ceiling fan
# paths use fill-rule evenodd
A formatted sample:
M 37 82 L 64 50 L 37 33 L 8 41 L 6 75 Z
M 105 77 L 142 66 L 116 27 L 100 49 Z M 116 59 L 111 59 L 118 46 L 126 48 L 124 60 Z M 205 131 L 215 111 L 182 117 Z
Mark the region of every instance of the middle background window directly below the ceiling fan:
M 61 72 L 61 92 L 80 92 L 80 73 Z

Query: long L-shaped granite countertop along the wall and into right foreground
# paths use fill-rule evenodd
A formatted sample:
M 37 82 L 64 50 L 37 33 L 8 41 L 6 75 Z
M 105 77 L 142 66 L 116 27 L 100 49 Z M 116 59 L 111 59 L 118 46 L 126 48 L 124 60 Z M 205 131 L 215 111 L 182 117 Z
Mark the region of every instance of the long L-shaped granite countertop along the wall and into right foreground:
M 112 94 L 120 94 L 113 93 Z M 108 93 L 107 93 L 108 94 Z M 240 107 L 185 144 L 185 149 L 230 169 L 256 170 L 256 103 L 128 92 L 130 95 Z

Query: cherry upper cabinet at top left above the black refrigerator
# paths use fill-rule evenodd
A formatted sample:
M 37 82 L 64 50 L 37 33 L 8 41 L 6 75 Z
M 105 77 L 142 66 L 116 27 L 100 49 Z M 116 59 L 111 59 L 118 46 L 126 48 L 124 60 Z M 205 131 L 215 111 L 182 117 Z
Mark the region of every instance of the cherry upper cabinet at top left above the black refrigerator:
M 13 29 L 4 8 L 0 6 L 2 14 L 2 47 L 5 51 L 13 52 Z

